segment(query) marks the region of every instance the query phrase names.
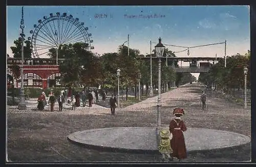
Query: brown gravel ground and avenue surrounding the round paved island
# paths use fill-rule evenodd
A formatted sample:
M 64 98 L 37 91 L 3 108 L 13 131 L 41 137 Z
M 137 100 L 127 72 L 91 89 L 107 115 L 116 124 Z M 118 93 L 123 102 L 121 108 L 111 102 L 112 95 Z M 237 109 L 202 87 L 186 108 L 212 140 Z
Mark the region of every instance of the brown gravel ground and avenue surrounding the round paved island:
M 227 102 L 215 92 L 207 93 L 206 111 L 200 107 L 203 85 L 193 83 L 161 94 L 161 122 L 168 125 L 172 110 L 184 108 L 187 127 L 209 128 L 251 136 L 250 108 Z M 13 161 L 159 161 L 158 155 L 100 152 L 71 144 L 70 133 L 111 127 L 148 127 L 156 125 L 157 97 L 122 108 L 116 115 L 98 105 L 72 111 L 17 110 L 7 107 L 8 157 Z M 214 136 L 213 136 L 214 137 Z M 250 144 L 222 150 L 191 152 L 186 162 L 250 161 Z

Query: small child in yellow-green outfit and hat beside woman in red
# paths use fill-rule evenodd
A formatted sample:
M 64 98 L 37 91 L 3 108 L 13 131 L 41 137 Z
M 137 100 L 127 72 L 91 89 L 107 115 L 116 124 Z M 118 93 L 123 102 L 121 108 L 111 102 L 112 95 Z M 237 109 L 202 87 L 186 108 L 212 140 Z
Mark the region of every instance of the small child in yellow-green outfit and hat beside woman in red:
M 173 153 L 172 148 L 170 147 L 170 139 L 173 138 L 172 133 L 167 129 L 161 129 L 159 132 L 160 135 L 160 144 L 158 146 L 159 152 L 162 154 L 162 159 L 166 161 L 167 159 L 173 160 L 170 157 L 170 154 Z

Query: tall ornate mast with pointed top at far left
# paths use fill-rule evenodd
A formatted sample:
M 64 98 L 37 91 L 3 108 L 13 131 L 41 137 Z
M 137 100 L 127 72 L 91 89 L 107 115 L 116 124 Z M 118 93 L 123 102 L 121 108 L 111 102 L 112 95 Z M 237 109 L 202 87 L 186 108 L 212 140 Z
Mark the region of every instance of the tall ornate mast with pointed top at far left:
M 27 106 L 25 103 L 25 91 L 24 91 L 24 39 L 25 39 L 24 28 L 25 26 L 24 26 L 23 7 L 22 7 L 22 20 L 20 21 L 20 29 L 22 29 L 22 33 L 20 34 L 22 39 L 22 65 L 21 65 L 20 76 L 22 79 L 22 83 L 20 84 L 20 94 L 19 94 L 19 104 L 18 104 L 19 110 L 27 109 Z

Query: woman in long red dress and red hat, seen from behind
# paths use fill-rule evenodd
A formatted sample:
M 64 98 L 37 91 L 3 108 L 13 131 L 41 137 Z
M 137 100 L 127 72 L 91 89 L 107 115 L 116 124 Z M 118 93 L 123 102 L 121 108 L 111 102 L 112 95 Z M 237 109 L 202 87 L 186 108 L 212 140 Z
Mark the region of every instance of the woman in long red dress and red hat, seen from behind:
M 185 145 L 185 138 L 183 132 L 187 130 L 186 125 L 181 120 L 181 116 L 184 114 L 182 108 L 175 108 L 173 114 L 176 116 L 170 121 L 169 131 L 173 134 L 173 138 L 170 139 L 170 147 L 173 149 L 172 157 L 179 159 L 187 158 L 187 151 Z

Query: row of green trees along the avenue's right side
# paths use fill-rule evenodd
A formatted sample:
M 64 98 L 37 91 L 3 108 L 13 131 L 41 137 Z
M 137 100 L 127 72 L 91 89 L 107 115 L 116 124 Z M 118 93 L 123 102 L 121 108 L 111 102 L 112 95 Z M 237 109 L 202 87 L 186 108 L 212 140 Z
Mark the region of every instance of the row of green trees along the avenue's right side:
M 221 59 L 210 67 L 208 73 L 201 73 L 199 81 L 206 84 L 214 83 L 217 89 L 230 93 L 231 90 L 244 88 L 244 67 L 248 68 L 247 88 L 250 88 L 250 51 L 245 55 L 234 55 Z

